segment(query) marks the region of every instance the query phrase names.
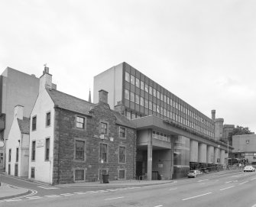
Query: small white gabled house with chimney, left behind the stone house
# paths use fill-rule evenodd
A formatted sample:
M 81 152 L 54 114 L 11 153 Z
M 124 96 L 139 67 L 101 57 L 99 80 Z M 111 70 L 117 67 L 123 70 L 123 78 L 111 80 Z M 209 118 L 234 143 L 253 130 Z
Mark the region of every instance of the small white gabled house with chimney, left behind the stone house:
M 6 139 L 6 168 L 8 175 L 28 177 L 29 118 L 23 116 L 24 107 L 15 106 L 14 119 Z

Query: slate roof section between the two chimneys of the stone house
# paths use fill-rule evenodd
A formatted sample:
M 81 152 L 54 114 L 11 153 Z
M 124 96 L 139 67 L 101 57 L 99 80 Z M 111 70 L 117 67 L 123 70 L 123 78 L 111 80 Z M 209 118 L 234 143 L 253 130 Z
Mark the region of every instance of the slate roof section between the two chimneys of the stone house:
M 47 92 L 53 100 L 54 105 L 57 105 L 57 107 L 83 115 L 90 115 L 89 110 L 91 105 L 93 105 L 92 103 L 55 89 L 47 89 Z

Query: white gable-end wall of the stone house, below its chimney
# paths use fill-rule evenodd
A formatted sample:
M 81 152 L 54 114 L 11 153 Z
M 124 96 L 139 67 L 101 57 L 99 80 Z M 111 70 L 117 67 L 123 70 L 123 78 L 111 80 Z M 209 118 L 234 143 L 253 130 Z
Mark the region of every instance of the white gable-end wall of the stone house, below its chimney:
M 28 177 L 31 178 L 31 167 L 35 168 L 35 180 L 45 183 L 52 183 L 53 175 L 53 126 L 54 126 L 54 104 L 50 95 L 46 90 L 41 91 L 37 97 L 37 101 L 31 112 L 32 118 L 37 115 L 37 129 L 31 130 L 30 134 L 30 149 L 32 141 L 36 141 L 35 161 L 31 161 L 31 150 L 29 157 L 29 173 Z M 46 114 L 50 112 L 50 127 L 46 127 Z M 45 160 L 45 139 L 50 138 L 50 160 Z M 39 147 L 37 144 L 43 142 L 43 146 Z

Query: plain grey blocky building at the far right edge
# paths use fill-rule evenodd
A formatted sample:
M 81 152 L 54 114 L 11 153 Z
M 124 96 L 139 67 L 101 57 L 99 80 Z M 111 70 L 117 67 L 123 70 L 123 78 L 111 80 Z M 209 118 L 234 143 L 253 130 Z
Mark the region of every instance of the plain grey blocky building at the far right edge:
M 256 162 L 256 134 L 235 135 L 232 137 L 233 157 L 246 159 L 248 163 Z

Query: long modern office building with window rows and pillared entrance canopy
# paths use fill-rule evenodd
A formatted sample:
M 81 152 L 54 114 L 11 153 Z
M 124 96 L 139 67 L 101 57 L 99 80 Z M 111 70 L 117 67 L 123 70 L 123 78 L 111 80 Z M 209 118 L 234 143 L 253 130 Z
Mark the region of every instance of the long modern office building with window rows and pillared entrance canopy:
M 111 108 L 137 126 L 138 176 L 171 179 L 192 167 L 225 164 L 227 145 L 219 141 L 223 119 L 215 119 L 215 110 L 212 118 L 203 115 L 128 63 L 95 76 L 94 94 L 99 89 L 109 92 Z

